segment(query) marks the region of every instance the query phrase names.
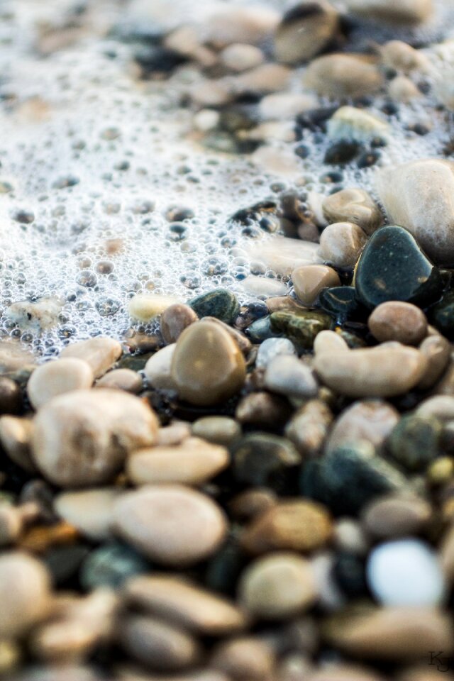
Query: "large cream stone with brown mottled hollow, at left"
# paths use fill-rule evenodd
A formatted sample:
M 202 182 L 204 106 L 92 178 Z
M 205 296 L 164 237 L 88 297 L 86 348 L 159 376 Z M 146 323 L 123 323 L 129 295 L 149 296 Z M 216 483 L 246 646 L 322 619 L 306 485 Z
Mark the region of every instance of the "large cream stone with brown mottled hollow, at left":
M 121 470 L 129 451 L 152 445 L 155 413 L 119 390 L 74 390 L 45 404 L 35 416 L 33 459 L 60 487 L 99 485 Z

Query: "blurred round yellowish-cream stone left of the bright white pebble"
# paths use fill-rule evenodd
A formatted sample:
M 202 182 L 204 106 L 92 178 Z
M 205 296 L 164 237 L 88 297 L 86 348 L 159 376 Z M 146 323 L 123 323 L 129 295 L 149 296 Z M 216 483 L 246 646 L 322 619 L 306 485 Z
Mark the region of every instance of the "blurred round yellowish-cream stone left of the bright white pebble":
M 239 598 L 259 619 L 286 619 L 317 599 L 311 564 L 295 553 L 274 553 L 248 565 L 240 577 Z

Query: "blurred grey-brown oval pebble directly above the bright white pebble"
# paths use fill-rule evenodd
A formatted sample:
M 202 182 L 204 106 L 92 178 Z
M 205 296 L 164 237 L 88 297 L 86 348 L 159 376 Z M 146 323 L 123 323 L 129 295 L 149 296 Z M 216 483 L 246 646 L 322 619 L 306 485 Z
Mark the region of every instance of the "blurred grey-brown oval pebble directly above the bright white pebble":
M 377 539 L 417 535 L 428 526 L 432 509 L 419 497 L 390 494 L 365 507 L 362 525 Z

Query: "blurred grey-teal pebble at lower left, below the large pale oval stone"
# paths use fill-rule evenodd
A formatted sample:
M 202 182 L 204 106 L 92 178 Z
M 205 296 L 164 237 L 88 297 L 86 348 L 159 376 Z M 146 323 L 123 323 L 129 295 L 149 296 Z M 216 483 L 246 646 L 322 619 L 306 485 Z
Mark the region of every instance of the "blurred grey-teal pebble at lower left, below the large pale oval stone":
M 109 543 L 95 548 L 82 563 L 79 580 L 87 591 L 99 587 L 117 589 L 134 575 L 150 572 L 148 560 L 131 546 L 122 543 Z

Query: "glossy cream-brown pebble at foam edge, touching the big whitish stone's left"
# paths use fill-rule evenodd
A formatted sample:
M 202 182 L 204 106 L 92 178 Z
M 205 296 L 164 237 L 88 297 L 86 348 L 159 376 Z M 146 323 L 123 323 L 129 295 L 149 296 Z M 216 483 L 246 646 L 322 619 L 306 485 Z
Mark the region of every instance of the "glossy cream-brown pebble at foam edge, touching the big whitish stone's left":
M 371 235 L 383 222 L 382 213 L 364 189 L 341 189 L 323 200 L 323 215 L 328 222 L 353 222 Z

